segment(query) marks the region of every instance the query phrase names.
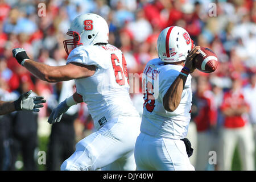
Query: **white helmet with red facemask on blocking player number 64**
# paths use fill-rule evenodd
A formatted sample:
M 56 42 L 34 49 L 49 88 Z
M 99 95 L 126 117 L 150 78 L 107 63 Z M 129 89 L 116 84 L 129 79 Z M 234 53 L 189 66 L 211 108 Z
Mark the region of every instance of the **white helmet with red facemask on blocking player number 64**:
M 88 46 L 96 43 L 108 43 L 109 26 L 104 18 L 97 14 L 81 14 L 71 23 L 67 35 L 73 39 L 64 40 L 64 48 L 69 55 L 68 46 Z

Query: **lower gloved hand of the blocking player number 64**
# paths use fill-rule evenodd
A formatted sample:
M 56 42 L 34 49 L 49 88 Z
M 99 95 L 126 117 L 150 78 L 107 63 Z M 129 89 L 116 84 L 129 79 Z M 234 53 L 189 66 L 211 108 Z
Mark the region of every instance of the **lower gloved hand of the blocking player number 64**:
M 61 102 L 55 109 L 52 110 L 49 116 L 48 123 L 53 124 L 55 122 L 60 122 L 62 115 L 69 109 L 66 100 Z

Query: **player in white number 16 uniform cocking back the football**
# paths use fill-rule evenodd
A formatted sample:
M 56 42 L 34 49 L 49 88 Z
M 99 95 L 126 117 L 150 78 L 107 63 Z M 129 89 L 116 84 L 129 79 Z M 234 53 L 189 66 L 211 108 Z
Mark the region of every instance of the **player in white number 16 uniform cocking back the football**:
M 193 46 L 181 27 L 167 27 L 159 35 L 159 59 L 148 61 L 143 72 L 144 109 L 135 145 L 138 170 L 195 170 L 181 140 L 191 118 L 189 73 L 200 49 Z

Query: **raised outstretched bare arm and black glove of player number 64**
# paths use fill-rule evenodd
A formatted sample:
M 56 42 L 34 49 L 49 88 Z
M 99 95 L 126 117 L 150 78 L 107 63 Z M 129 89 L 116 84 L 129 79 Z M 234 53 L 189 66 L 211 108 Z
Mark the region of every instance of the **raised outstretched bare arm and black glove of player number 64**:
M 23 48 L 13 49 L 13 56 L 19 64 L 27 68 L 34 76 L 47 82 L 59 82 L 90 77 L 96 71 L 94 65 L 69 63 L 63 66 L 52 67 L 47 64 L 38 63 L 31 60 Z

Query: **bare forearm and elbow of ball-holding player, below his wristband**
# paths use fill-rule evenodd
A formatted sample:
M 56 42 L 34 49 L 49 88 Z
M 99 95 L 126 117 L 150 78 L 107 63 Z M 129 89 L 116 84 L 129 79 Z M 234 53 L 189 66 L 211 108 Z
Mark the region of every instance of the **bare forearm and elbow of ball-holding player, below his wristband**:
M 163 97 L 163 106 L 167 111 L 173 112 L 180 104 L 181 95 L 184 89 L 187 77 L 184 75 L 177 76 Z

